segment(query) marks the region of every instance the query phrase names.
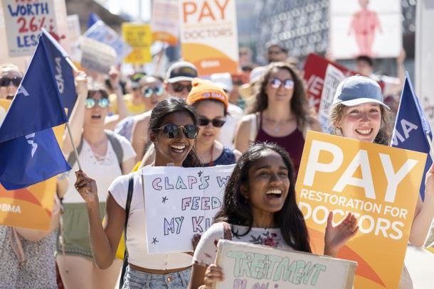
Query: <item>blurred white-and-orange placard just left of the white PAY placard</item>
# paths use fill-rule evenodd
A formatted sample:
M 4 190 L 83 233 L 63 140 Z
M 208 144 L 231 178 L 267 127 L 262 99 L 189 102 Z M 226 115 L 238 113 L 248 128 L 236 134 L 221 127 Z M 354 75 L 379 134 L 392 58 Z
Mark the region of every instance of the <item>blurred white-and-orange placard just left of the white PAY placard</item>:
M 151 30 L 153 40 L 176 45 L 179 37 L 178 0 L 152 1 Z

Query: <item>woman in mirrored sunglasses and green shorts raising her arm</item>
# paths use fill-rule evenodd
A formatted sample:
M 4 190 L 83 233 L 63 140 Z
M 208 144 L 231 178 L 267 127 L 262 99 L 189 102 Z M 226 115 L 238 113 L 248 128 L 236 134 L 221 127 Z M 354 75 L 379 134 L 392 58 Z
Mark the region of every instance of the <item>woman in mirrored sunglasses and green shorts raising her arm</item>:
M 100 200 L 97 203 L 98 218 L 102 222 L 108 187 L 112 180 L 132 170 L 135 153 L 126 138 L 105 130 L 105 116 L 109 107 L 107 91 L 99 84 L 88 87 L 85 75 L 79 75 L 76 80 L 78 100 L 70 116 L 70 128 L 81 167 L 97 180 Z M 73 170 L 58 181 L 58 193 L 63 196 L 65 208 L 57 254 L 60 276 L 66 288 L 113 288 L 122 261 L 116 260 L 107 270 L 95 266 L 90 246 L 87 205 L 74 187 L 74 171 L 78 170 L 78 161 L 67 135 L 64 136 L 63 153 L 69 156 L 68 163 Z

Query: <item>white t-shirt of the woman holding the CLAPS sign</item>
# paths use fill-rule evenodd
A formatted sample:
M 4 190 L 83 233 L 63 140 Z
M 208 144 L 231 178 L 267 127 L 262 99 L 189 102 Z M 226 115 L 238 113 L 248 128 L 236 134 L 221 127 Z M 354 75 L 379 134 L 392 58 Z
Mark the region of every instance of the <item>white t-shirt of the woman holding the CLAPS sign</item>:
M 127 224 L 128 263 L 142 268 L 169 270 L 184 268 L 191 265 L 191 256 L 186 253 L 147 253 L 146 223 L 144 214 L 144 192 L 142 173 L 147 167 L 134 172 L 134 188 Z M 129 175 L 116 178 L 109 187 L 110 194 L 118 205 L 125 209 L 127 204 Z M 174 240 L 176 241 L 176 240 Z

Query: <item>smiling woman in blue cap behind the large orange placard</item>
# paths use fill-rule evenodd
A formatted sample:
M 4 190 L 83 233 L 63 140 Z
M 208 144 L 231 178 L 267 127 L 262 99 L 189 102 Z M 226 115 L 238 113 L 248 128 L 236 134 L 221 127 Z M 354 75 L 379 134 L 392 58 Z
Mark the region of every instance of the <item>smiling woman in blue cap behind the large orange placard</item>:
M 354 75 L 337 87 L 330 124 L 337 135 L 387 146 L 391 139 L 388 110 L 379 84 L 369 77 Z M 433 217 L 434 168 L 431 166 L 425 179 L 425 200 L 422 202 L 419 195 L 408 239 L 413 246 L 423 246 Z M 413 288 L 406 266 L 399 284 L 399 289 L 403 288 Z

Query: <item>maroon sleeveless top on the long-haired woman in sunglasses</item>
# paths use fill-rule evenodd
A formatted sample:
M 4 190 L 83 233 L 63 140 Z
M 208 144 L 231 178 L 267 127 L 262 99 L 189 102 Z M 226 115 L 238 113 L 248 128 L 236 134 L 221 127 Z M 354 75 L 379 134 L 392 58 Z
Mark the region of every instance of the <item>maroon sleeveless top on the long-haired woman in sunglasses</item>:
M 302 160 L 303 147 L 305 146 L 305 138 L 299 129 L 295 129 L 287 136 L 270 136 L 263 130 L 263 113 L 260 113 L 260 124 L 258 135 L 256 136 L 257 142 L 267 141 L 268 143 L 277 143 L 282 148 L 285 148 L 290 155 L 292 165 L 294 165 L 294 177 L 297 179 L 298 169 Z

